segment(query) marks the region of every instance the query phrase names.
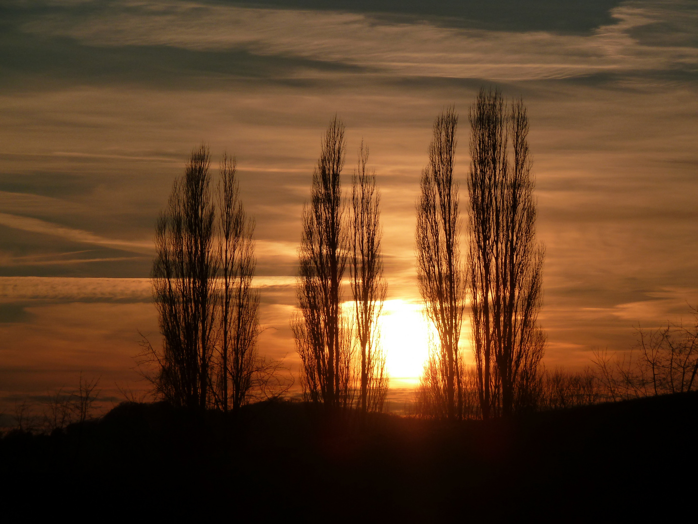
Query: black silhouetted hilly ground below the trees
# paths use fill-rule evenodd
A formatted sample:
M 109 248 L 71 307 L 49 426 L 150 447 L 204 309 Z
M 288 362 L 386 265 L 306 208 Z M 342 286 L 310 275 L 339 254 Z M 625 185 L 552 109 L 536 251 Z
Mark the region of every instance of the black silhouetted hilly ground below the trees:
M 125 403 L 66 432 L 2 439 L 3 511 L 325 522 L 664 521 L 688 511 L 693 521 L 697 429 L 698 393 L 454 424 L 360 423 L 298 402 L 237 418 Z M 17 497 L 27 495 L 24 509 Z

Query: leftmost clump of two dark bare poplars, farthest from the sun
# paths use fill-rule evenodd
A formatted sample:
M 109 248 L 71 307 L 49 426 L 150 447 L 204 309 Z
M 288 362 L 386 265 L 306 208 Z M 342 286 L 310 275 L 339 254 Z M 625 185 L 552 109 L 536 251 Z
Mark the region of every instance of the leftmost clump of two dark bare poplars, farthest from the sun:
M 152 282 L 163 347 L 144 338 L 140 364 L 154 393 L 174 406 L 235 411 L 292 382 L 280 361 L 257 351 L 254 220 L 239 198 L 235 157 L 221 160 L 218 214 L 210 164 L 205 145 L 191 152 L 158 219 Z

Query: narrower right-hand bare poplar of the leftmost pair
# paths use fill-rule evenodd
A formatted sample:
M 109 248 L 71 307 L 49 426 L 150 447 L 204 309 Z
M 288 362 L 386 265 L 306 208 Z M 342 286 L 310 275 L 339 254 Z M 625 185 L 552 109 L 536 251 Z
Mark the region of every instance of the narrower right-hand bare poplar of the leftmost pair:
M 219 391 L 223 411 L 246 404 L 258 370 L 259 291 L 253 289 L 255 221 L 239 198 L 235 157 L 223 155 L 218 184 L 221 242 L 221 358 Z M 230 387 L 229 387 L 230 386 Z

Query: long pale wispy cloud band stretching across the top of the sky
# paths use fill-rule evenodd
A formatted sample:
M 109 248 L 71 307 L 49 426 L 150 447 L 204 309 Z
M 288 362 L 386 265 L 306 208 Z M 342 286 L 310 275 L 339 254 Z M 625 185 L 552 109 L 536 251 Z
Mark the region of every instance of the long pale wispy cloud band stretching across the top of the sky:
M 246 52 L 257 57 L 262 67 L 264 57 L 285 57 L 282 60 L 287 62 L 345 64 L 361 68 L 357 71 L 401 76 L 532 80 L 695 66 L 698 49 L 690 45 L 660 48 L 641 45 L 630 36 L 632 30 L 662 22 L 667 10 L 623 3 L 611 15 L 616 23 L 580 36 L 542 30 L 455 29 L 414 21 L 381 23 L 365 14 L 324 10 L 124 2 L 84 15 L 70 10 L 52 13 L 23 24 L 22 29 L 73 38 L 95 53 L 142 46 L 163 53 L 174 52 L 168 49 Z M 145 48 L 143 54 L 147 54 Z M 290 76 L 298 74 L 315 75 L 297 71 Z

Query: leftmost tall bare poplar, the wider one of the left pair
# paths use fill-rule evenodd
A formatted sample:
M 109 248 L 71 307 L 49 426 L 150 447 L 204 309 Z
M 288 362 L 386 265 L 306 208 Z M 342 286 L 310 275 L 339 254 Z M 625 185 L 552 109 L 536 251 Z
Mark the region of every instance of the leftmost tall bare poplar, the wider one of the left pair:
M 214 349 L 216 252 L 211 157 L 191 152 L 184 177 L 174 182 L 158 219 L 152 283 L 163 349 L 144 342 L 158 372 L 154 386 L 174 405 L 205 409 L 211 402 L 209 365 Z

